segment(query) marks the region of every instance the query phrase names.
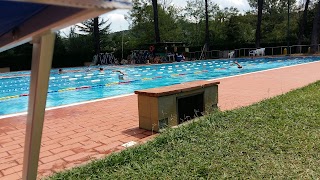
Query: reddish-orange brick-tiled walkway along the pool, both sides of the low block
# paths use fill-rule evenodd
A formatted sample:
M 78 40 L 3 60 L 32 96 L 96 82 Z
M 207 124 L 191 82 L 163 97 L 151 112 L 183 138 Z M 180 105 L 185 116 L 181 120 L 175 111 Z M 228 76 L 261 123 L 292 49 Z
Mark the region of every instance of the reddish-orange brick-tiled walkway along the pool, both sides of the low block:
M 219 80 L 219 107 L 230 110 L 320 80 L 320 62 Z M 21 179 L 26 116 L 0 119 L 0 179 Z M 38 177 L 144 142 L 137 96 L 46 111 Z

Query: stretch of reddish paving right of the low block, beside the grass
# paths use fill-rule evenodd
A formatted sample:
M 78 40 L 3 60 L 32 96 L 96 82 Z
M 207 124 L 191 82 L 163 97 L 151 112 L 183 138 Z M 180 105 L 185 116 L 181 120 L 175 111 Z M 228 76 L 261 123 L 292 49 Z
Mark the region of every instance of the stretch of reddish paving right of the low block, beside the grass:
M 247 106 L 320 80 L 320 62 L 220 80 L 222 110 Z

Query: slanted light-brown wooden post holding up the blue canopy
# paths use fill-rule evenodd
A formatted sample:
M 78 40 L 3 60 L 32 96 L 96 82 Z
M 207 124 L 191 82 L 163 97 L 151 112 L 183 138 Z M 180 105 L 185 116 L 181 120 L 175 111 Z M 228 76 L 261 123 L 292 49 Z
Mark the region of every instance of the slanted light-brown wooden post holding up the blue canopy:
M 55 34 L 47 33 L 33 42 L 31 81 L 22 178 L 37 178 L 43 121 L 47 100 Z

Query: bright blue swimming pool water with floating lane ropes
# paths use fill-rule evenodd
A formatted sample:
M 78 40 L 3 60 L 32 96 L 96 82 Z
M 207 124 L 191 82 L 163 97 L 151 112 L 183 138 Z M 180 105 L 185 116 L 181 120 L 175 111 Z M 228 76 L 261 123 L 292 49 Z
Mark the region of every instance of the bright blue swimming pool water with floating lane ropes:
M 232 60 L 188 61 L 151 66 L 101 66 L 65 68 L 59 74 L 51 70 L 47 107 L 133 93 L 135 90 L 167 86 L 195 80 L 217 79 L 249 72 L 262 71 L 319 61 L 319 57 L 237 59 L 243 66 L 238 69 Z M 119 80 L 118 72 L 126 75 Z M 27 111 L 30 72 L 0 74 L 0 115 Z

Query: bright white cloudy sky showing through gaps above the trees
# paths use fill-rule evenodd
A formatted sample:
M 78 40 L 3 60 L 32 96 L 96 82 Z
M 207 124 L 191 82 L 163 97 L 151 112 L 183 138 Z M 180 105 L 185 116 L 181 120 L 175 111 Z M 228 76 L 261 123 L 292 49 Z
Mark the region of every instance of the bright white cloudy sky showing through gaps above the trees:
M 160 0 L 158 0 L 158 2 L 159 1 Z M 186 0 L 171 0 L 171 1 L 172 1 L 172 4 L 177 7 L 184 7 L 187 5 Z M 250 8 L 247 0 L 214 0 L 214 2 L 218 4 L 220 8 L 233 6 L 238 8 L 240 11 L 246 11 L 246 10 L 249 10 Z M 123 9 L 114 10 L 102 15 L 102 17 L 104 19 L 109 19 L 109 23 L 111 23 L 111 26 L 110 26 L 111 32 L 117 32 L 117 31 L 129 29 L 129 22 L 124 19 L 125 15 L 128 14 L 128 12 L 129 10 L 123 10 Z M 68 31 L 68 28 L 63 31 Z

